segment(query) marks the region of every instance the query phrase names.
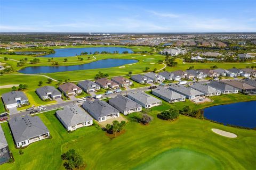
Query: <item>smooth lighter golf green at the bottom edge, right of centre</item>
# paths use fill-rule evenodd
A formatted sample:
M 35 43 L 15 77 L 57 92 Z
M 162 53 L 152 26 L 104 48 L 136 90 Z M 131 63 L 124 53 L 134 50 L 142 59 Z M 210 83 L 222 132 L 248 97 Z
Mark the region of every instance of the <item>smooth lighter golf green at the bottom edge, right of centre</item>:
M 221 169 L 218 160 L 188 149 L 171 149 L 134 169 Z

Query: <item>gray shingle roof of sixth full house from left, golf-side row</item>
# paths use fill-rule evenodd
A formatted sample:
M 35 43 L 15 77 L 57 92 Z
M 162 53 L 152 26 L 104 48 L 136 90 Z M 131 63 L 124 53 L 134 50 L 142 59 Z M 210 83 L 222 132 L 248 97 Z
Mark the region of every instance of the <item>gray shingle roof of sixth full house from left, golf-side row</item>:
M 153 89 L 152 91 L 170 100 L 185 98 L 185 96 L 178 94 L 178 92 L 172 91 L 164 87 L 157 87 L 157 89 Z

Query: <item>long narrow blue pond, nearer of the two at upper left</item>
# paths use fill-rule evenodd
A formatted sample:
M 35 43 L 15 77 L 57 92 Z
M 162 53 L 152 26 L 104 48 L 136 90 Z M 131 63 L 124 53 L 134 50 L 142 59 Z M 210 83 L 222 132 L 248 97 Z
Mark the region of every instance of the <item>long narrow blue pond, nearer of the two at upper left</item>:
M 138 60 L 106 59 L 106 60 L 98 60 L 95 62 L 80 64 L 80 65 L 25 67 L 24 69 L 19 70 L 19 72 L 25 73 L 25 74 L 55 73 L 55 72 L 63 72 L 63 71 L 102 69 L 102 68 L 116 67 L 124 64 L 132 64 L 137 62 Z

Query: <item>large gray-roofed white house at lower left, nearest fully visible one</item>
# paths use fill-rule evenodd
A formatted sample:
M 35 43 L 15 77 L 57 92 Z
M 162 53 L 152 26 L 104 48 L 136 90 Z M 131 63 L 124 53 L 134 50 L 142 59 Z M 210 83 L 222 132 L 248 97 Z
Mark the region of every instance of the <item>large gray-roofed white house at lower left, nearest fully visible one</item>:
M 50 132 L 38 116 L 15 116 L 9 121 L 17 148 L 50 137 Z

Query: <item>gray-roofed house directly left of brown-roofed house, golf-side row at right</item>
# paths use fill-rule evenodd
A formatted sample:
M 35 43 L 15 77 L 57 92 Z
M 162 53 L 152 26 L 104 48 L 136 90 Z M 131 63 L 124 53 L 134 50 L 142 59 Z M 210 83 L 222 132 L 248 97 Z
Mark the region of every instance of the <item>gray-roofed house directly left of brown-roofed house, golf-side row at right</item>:
M 219 82 L 219 81 L 211 81 L 209 86 L 218 89 L 221 91 L 222 94 L 237 94 L 238 89 L 230 86 L 229 84 Z

